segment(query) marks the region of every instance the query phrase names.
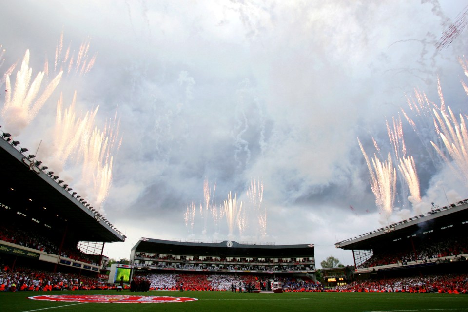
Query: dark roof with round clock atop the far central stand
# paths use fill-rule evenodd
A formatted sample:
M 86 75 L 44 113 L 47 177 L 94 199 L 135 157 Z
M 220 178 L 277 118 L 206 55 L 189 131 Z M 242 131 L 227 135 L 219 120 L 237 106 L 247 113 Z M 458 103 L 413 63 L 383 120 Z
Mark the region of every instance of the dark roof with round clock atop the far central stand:
M 240 244 L 235 241 L 219 243 L 193 243 L 141 238 L 132 248 L 136 252 L 158 254 L 186 254 L 233 257 L 301 257 L 313 256 L 313 244 L 298 245 L 261 245 Z

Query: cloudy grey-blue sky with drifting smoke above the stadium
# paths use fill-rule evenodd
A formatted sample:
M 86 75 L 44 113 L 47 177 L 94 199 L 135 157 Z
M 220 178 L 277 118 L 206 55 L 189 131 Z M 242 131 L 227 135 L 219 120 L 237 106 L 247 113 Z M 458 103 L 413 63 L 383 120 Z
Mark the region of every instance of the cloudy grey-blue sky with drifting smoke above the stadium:
M 313 243 L 317 263 L 333 255 L 351 265 L 352 253 L 334 243 L 468 197 L 451 158 L 430 144 L 433 116 L 408 105 L 418 90 L 440 107 L 439 79 L 445 105 L 468 113 L 467 30 L 437 48 L 450 25 L 466 23 L 466 1 L 1 2 L 2 107 L 28 49 L 33 78 L 45 72 L 40 90 L 66 64 L 68 47 L 75 55 L 37 114 L 19 124 L 20 113 L 4 109 L 2 130 L 29 150 L 40 144 L 37 158 L 128 236 L 106 245 L 109 257 L 128 258 L 140 237 L 233 239 Z M 78 50 L 88 44 L 82 61 L 91 65 L 81 72 Z M 90 167 L 80 150 L 54 152 L 60 94 L 65 109 L 75 91 L 76 117 L 94 112 L 91 128 L 113 129 L 102 202 L 83 182 Z M 393 119 L 402 120 L 422 200 L 415 207 L 398 173 L 389 213 L 376 204 L 358 139 L 369 158 L 385 161 Z M 230 192 L 241 213 L 215 222 Z

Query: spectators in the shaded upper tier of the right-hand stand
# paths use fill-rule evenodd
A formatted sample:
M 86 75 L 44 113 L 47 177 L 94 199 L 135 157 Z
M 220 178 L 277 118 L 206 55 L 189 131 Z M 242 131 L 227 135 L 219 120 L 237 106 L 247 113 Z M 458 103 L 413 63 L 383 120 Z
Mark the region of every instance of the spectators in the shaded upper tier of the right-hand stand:
M 398 245 L 396 249 L 375 250 L 374 254 L 359 268 L 371 268 L 376 266 L 400 264 L 409 262 L 434 262 L 440 261 L 447 256 L 459 256 L 468 254 L 467 238 L 437 239 L 435 241 L 423 242 L 412 248 Z M 463 259 L 460 257 L 460 259 Z

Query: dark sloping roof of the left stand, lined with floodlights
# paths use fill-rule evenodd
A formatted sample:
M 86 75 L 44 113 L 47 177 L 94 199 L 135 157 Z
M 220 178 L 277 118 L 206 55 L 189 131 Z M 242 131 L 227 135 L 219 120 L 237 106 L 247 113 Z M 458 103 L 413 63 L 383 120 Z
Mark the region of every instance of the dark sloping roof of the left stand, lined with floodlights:
M 99 218 L 68 190 L 42 170 L 46 164 L 37 165 L 36 159 L 21 152 L 19 142 L 8 134 L 0 138 L 0 159 L 3 182 L 0 186 L 0 211 L 5 206 L 16 210 L 18 217 L 44 223 L 52 228 L 68 228 L 80 241 L 118 242 L 125 236 L 112 224 Z M 57 179 L 59 180 L 59 179 Z M 62 183 L 66 183 L 62 182 Z M 61 235 L 61 234 L 59 234 Z

